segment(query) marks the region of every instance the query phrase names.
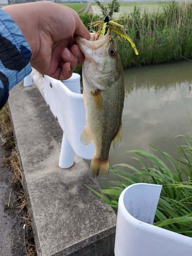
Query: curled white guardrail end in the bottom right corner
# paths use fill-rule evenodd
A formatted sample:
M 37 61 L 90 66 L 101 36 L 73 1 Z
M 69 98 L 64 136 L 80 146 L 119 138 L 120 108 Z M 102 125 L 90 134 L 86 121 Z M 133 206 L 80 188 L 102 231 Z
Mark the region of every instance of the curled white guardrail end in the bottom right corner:
M 192 238 L 155 225 L 161 185 L 125 188 L 118 204 L 115 256 L 191 256 Z

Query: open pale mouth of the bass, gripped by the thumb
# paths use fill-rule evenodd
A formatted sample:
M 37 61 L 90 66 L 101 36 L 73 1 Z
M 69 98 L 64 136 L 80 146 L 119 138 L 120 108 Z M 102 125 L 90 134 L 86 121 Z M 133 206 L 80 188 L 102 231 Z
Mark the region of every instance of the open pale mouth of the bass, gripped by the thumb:
M 98 40 L 96 40 L 96 33 L 91 33 L 91 38 L 89 40 L 79 36 L 74 36 L 74 38 L 84 56 L 89 61 L 92 61 L 94 56 L 102 55 L 103 52 L 105 52 L 104 50 L 110 41 L 110 34 L 107 32 L 102 38 Z

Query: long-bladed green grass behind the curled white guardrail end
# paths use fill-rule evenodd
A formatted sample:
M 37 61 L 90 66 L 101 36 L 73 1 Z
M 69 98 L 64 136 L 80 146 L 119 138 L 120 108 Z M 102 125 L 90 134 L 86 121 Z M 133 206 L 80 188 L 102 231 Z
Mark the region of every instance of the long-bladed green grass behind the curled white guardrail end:
M 162 185 L 154 225 L 192 237 L 192 139 L 188 137 L 184 139 L 185 143 L 179 146 L 176 158 L 153 146 L 151 152 L 126 151 L 124 154 L 127 156 L 134 153 L 135 156 L 132 158 L 140 168 L 126 163 L 113 165 L 110 173 L 118 177 L 119 181 L 102 182 L 106 184 L 103 185 L 105 187 L 102 192 L 107 197 L 89 188 L 117 210 L 119 196 L 125 187 L 134 183 Z M 155 155 L 157 153 L 163 160 Z M 171 167 L 168 167 L 166 163 L 169 163 Z M 121 170 L 121 167 L 126 167 L 127 172 Z

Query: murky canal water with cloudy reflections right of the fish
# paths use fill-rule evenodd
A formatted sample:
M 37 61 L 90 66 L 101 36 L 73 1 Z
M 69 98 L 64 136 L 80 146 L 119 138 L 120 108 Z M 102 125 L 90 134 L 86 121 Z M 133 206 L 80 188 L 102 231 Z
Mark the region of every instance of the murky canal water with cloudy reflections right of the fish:
M 124 71 L 123 143 L 110 150 L 110 162 L 136 165 L 126 150 L 150 149 L 150 144 L 175 156 L 183 134 L 192 137 L 192 62 L 131 68 Z M 112 179 L 112 177 L 109 177 Z

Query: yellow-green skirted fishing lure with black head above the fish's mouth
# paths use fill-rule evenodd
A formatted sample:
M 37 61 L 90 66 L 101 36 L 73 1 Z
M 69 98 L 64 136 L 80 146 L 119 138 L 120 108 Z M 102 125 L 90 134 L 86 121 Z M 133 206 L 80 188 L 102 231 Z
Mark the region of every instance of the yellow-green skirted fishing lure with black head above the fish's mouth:
M 97 33 L 96 40 L 103 37 L 108 30 L 110 32 L 113 31 L 113 32 L 117 33 L 118 37 L 120 35 L 123 38 L 125 38 L 126 40 L 128 40 L 130 42 L 135 54 L 138 55 L 138 51 L 137 51 L 137 48 L 136 48 L 134 42 L 129 37 L 129 35 L 126 34 L 123 26 L 117 23 L 117 22 L 121 22 L 123 20 L 124 20 L 124 18 L 110 20 L 110 18 L 108 16 L 105 16 L 103 22 L 100 20 L 98 22 L 90 23 L 89 26 L 90 26 L 90 28 L 99 26 L 98 31 L 96 32 Z

